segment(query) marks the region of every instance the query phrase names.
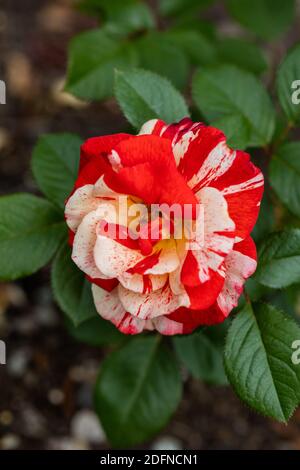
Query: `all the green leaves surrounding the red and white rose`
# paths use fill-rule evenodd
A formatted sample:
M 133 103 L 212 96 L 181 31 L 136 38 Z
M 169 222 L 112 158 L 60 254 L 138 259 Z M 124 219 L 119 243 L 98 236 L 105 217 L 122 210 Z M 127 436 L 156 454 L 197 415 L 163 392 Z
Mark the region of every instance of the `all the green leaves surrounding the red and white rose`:
M 114 446 L 143 442 L 167 423 L 181 397 L 179 364 L 210 384 L 229 381 L 245 403 L 279 421 L 286 422 L 300 401 L 300 366 L 292 362 L 293 341 L 300 339 L 294 321 L 300 284 L 300 44 L 284 52 L 276 70 L 270 64 L 277 55 L 266 60 L 274 38 L 293 23 L 295 1 L 227 0 L 227 13 L 244 28 L 238 37 L 203 21 L 202 12 L 214 3 L 161 0 L 153 10 L 139 0 L 80 0 L 78 7 L 99 19 L 99 27 L 71 41 L 66 90 L 84 100 L 114 97 L 136 130 L 151 118 L 171 123 L 191 114 L 222 129 L 234 148 L 250 149 L 266 175 L 253 231 L 259 263 L 224 325 L 168 342 L 153 334 L 125 339 L 100 319 L 90 284 L 71 261 L 63 215 L 81 137 L 39 139 L 32 171 L 49 201 L 26 194 L 0 198 L 0 278 L 28 276 L 54 260 L 54 296 L 70 334 L 93 346 L 117 347 L 95 386 L 96 410 Z

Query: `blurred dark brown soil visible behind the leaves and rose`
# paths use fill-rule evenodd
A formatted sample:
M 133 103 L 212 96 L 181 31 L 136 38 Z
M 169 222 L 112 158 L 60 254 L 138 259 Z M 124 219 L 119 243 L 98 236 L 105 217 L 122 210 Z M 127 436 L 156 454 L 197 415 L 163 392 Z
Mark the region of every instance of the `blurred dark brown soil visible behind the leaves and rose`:
M 222 9 L 214 14 L 224 30 L 232 28 Z M 1 1 L 0 78 L 8 89 L 0 106 L 0 194 L 37 191 L 29 162 L 40 135 L 87 138 L 126 127 L 113 101 L 86 105 L 61 91 L 68 41 L 95 25 L 71 0 Z M 282 44 L 275 50 L 280 58 Z M 0 284 L 0 338 L 7 345 L 7 364 L 0 366 L 0 448 L 108 448 L 92 411 L 105 352 L 68 337 L 47 269 Z M 229 388 L 184 375 L 178 412 L 147 448 L 300 449 L 300 410 L 288 426 L 280 425 L 248 410 Z

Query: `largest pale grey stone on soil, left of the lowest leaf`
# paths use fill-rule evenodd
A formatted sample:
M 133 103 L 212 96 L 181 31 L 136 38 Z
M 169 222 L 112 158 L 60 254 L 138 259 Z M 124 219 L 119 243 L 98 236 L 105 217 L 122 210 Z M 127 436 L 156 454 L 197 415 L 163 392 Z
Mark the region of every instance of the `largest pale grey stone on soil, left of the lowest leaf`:
M 71 433 L 76 439 L 91 444 L 106 441 L 97 416 L 90 410 L 81 410 L 75 414 L 71 422 Z

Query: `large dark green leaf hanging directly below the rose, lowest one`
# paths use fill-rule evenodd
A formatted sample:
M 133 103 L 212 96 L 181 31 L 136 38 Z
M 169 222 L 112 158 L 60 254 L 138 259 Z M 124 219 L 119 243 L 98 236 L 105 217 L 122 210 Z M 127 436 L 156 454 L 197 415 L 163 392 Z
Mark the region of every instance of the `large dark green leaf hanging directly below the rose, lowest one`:
M 132 339 L 102 364 L 96 411 L 115 447 L 142 443 L 169 421 L 181 397 L 173 355 L 159 336 Z

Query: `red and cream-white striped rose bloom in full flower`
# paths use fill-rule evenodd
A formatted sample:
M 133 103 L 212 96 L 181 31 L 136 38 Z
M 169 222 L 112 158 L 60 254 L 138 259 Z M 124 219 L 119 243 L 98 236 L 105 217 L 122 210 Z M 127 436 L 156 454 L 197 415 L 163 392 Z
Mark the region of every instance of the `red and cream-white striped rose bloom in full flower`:
M 249 155 L 231 150 L 218 129 L 188 118 L 149 121 L 137 136 L 87 140 L 65 216 L 72 259 L 92 283 L 100 315 L 126 334 L 186 334 L 222 322 L 256 269 L 250 232 L 262 194 L 263 175 Z M 166 238 L 161 217 L 116 222 L 120 197 L 129 208 L 189 205 L 197 228 L 190 237 Z M 131 237 L 130 222 L 140 236 Z

